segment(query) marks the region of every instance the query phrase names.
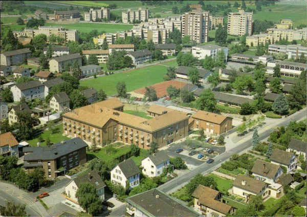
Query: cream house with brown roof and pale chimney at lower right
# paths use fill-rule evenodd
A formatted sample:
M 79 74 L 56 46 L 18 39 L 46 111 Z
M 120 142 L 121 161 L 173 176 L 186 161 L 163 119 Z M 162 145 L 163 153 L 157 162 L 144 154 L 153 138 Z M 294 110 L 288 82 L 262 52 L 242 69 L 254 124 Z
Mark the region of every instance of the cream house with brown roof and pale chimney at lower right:
M 265 182 L 239 174 L 233 182 L 232 193 L 248 202 L 252 196 L 268 197 L 268 187 L 269 184 Z

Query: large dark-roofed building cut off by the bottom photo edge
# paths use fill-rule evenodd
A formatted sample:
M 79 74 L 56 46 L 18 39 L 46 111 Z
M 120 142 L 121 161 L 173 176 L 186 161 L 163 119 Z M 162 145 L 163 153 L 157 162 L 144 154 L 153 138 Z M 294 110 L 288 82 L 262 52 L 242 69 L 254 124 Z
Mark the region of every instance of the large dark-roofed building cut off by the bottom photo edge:
M 134 216 L 199 216 L 200 214 L 186 206 L 183 201 L 169 196 L 157 188 L 136 194 L 125 199 L 126 212 Z

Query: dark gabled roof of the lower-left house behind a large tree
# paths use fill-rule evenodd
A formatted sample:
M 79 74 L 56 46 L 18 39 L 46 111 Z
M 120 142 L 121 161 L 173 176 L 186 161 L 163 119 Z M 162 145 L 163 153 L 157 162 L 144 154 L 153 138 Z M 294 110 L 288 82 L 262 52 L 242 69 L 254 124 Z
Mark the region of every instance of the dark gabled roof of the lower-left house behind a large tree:
M 86 172 L 84 173 L 84 175 L 79 176 L 73 179 L 72 181 L 76 183 L 78 188 L 80 187 L 82 183 L 86 183 L 86 182 L 89 182 L 92 185 L 94 185 L 96 190 L 99 190 L 106 186 L 96 170 Z

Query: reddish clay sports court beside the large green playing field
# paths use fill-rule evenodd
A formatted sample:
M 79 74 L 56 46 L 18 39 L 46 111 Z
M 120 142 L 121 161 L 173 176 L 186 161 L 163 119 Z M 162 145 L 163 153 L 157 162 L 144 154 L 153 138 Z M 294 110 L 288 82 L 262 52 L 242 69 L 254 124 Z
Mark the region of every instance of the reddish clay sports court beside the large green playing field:
M 175 86 L 177 89 L 182 89 L 186 85 L 186 83 L 180 82 L 180 81 L 175 81 L 175 80 L 170 80 L 170 81 L 164 81 L 164 82 L 161 82 L 161 83 L 156 83 L 156 84 L 153 84 L 153 85 L 150 85 L 150 86 L 155 88 L 155 90 L 157 92 L 157 97 L 161 98 L 164 95 L 168 95 L 166 89 L 170 85 Z M 145 88 L 135 90 L 134 92 L 137 93 L 137 94 L 145 94 Z

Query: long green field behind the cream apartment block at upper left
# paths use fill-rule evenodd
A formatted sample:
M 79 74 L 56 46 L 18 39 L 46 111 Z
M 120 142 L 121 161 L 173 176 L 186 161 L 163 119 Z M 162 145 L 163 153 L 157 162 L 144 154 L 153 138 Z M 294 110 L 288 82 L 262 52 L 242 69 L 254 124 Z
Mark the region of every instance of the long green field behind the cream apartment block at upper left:
M 67 29 L 77 29 L 79 32 L 91 32 L 92 30 L 104 30 L 107 33 L 115 33 L 117 31 L 125 31 L 132 29 L 133 25 L 123 24 L 95 24 L 95 23 L 76 23 L 76 24 L 54 24 L 46 23 L 45 26 L 62 26 Z

